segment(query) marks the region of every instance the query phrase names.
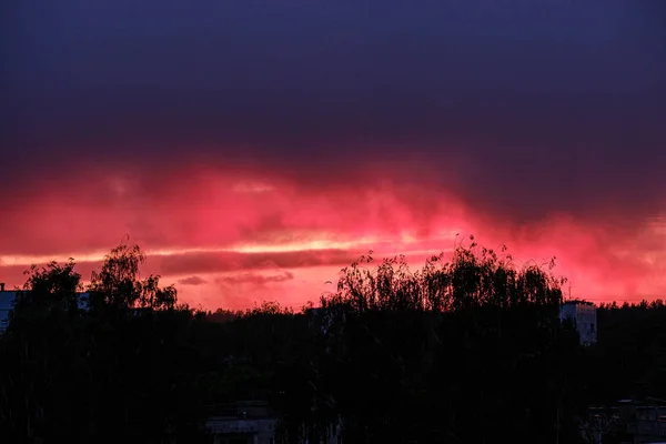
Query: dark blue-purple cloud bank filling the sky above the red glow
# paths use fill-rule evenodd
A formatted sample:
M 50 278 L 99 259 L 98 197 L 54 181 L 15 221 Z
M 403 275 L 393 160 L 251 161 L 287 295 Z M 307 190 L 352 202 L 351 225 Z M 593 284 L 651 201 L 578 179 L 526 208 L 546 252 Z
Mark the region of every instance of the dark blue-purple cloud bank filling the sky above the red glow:
M 268 165 L 311 186 L 426 179 L 512 221 L 663 210 L 659 1 L 3 8 L 3 164 L 21 186 Z

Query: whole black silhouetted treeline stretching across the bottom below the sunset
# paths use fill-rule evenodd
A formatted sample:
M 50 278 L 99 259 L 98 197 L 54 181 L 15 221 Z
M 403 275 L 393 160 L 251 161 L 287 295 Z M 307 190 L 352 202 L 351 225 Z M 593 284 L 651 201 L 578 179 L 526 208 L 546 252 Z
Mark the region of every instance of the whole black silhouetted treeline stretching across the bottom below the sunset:
M 576 443 L 588 405 L 666 397 L 662 303 L 602 306 L 581 347 L 553 263 L 504 249 L 415 272 L 363 256 L 301 312 L 191 310 L 143 260 L 119 246 L 88 289 L 72 262 L 30 270 L 0 341 L 2 436 L 196 442 L 218 406 L 265 400 L 285 443 L 333 424 L 345 443 Z

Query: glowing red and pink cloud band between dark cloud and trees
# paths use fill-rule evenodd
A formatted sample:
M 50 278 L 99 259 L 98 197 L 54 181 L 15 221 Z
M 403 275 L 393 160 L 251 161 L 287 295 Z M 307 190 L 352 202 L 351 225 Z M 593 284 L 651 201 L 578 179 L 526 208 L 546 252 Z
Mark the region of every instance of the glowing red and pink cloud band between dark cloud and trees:
M 397 176 L 391 168 L 397 167 L 369 168 L 369 175 Z M 316 300 L 323 282 L 367 250 L 405 253 L 418 266 L 451 250 L 455 233 L 458 240 L 473 233 L 488 248 L 506 244 L 518 260 L 557 256 L 557 273 L 571 278 L 581 297 L 654 297 L 665 290 L 663 219 L 618 224 L 561 212 L 519 222 L 452 195 L 430 170 L 422 180 L 411 165 L 402 171 L 404 182 L 364 183 L 350 173 L 347 183 L 331 178 L 327 185 L 260 168 L 99 169 L 44 189 L 36 179 L 18 192 L 21 199 L 12 198 L 11 210 L 0 210 L 0 276 L 18 285 L 31 262 L 73 256 L 87 278 L 130 233 L 149 253 L 144 272 L 179 282 L 188 302 L 214 309 L 222 296 L 211 282 L 245 279 L 235 305 L 270 296 L 299 304 Z M 278 282 L 263 274 L 281 270 L 299 270 L 299 278 Z M 193 276 L 202 281 L 193 285 Z

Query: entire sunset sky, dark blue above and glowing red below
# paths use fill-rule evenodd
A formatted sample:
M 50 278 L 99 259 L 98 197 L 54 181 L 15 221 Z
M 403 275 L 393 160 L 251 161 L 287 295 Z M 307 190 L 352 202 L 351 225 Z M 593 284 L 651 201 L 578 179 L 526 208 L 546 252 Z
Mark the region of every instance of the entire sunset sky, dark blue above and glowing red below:
M 660 0 L 0 8 L 10 287 L 129 235 L 181 301 L 299 306 L 474 234 L 577 297 L 666 295 Z

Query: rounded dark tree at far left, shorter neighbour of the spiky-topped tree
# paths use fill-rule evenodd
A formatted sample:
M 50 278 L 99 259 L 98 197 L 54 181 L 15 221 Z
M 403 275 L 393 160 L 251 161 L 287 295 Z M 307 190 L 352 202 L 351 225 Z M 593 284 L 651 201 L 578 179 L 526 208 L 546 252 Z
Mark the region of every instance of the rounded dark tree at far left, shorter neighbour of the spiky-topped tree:
M 81 275 L 74 262 L 32 266 L 17 293 L 2 337 L 0 417 L 6 436 L 37 438 L 77 430 L 73 418 L 85 396 L 62 391 L 84 379 L 79 336 Z

